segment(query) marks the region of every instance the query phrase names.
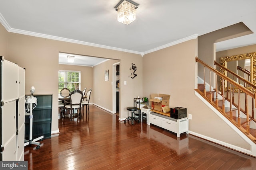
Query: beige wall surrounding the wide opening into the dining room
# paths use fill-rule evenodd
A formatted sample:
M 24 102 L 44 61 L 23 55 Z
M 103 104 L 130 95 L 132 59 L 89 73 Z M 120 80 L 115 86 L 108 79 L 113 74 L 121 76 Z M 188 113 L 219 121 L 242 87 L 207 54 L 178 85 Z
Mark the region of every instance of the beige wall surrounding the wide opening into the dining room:
M 0 27 L 0 35 L 6 36 L 6 30 L 2 29 L 2 25 L 0 25 Z M 129 68 L 130 63 L 141 60 L 141 62 L 137 62 L 136 64 L 142 69 L 142 57 L 140 55 L 122 51 L 114 51 L 16 33 L 7 33 L 6 42 L 2 40 L 0 40 L 0 42 L 3 43 L 3 47 L 6 46 L 8 49 L 5 54 L 6 59 L 26 68 L 26 94 L 30 93 L 31 86 L 36 88 L 35 94 L 53 94 L 52 131 L 58 131 L 59 52 L 121 60 L 124 63 L 124 66 L 122 67 L 120 64 L 120 74 L 125 76 L 124 78 L 121 76 L 120 79 L 122 80 L 126 80 L 128 77 L 129 70 L 127 69 Z M 142 93 L 141 84 L 142 80 L 134 81 L 133 85 L 128 84 L 122 86 L 120 94 L 128 94 L 120 97 L 120 113 L 122 114 L 122 117 L 126 117 L 126 107 L 130 106 L 131 99 L 138 95 L 138 91 Z M 136 90 L 134 90 L 134 86 L 136 86 Z M 97 89 L 94 89 L 94 91 L 97 91 Z M 92 93 L 94 91 L 92 91 Z

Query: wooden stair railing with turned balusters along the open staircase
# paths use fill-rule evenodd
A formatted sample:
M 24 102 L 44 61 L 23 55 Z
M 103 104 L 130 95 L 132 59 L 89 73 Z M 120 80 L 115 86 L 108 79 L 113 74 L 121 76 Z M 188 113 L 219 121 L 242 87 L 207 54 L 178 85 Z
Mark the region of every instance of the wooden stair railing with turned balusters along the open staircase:
M 196 57 L 196 62 L 200 63 L 203 67 L 204 67 L 204 90 L 203 92 L 200 91 L 199 89 L 195 89 L 200 95 L 202 95 L 212 106 L 214 106 L 217 110 L 220 111 L 220 113 L 222 113 L 222 115 L 224 115 L 227 119 L 229 119 L 236 127 L 238 127 L 238 129 L 240 129 L 244 134 L 246 134 L 252 141 L 254 141 L 256 143 L 256 134 L 250 134 L 250 121 L 254 121 L 256 122 L 256 120 L 254 119 L 254 115 L 253 115 L 253 111 L 252 111 L 252 115 L 250 115 L 250 113 L 248 112 L 248 98 L 251 98 L 252 100 L 252 110 L 254 110 L 254 101 L 255 101 L 255 89 L 256 86 L 254 86 L 254 84 L 252 84 L 251 82 L 248 82 L 246 79 L 242 78 L 241 76 L 238 76 L 237 74 L 235 74 L 234 72 L 231 72 L 230 70 L 228 70 L 227 68 L 224 68 L 224 70 L 230 72 L 230 74 L 232 74 L 233 76 L 238 78 L 238 82 L 232 80 L 231 78 L 229 78 L 228 76 L 226 76 L 225 74 L 223 74 L 222 72 L 216 70 L 215 68 L 209 66 L 208 64 L 204 63 L 203 61 L 201 61 L 200 59 L 198 59 L 198 57 Z M 214 64 L 218 65 L 216 62 L 214 62 Z M 218 65 L 220 66 L 220 65 Z M 210 93 L 209 96 L 206 93 L 206 69 L 209 71 L 210 76 L 209 76 L 209 84 L 211 83 L 211 74 L 215 76 L 215 92 L 216 92 L 216 98 L 215 100 L 212 99 L 212 92 L 211 92 L 211 85 L 210 85 Z M 221 89 L 218 90 L 218 76 L 220 77 L 221 84 L 220 87 Z M 244 86 L 242 86 L 240 84 L 240 81 L 244 82 Z M 226 86 L 226 88 L 225 88 Z M 250 86 L 250 88 L 248 89 L 247 87 Z M 237 94 L 234 93 L 234 89 L 237 89 Z M 226 92 L 225 92 L 226 91 Z M 244 96 L 244 98 L 242 98 L 241 101 L 241 93 Z M 221 99 L 218 99 L 219 95 L 222 96 Z M 230 102 L 230 106 L 229 107 L 225 107 L 225 100 L 228 100 Z M 221 102 L 220 106 L 219 106 L 219 102 Z M 244 104 L 244 108 L 242 108 L 241 106 L 241 102 L 243 102 Z M 236 107 L 236 108 L 233 108 Z M 235 116 L 233 115 L 234 110 L 237 110 L 237 112 L 235 112 Z M 240 113 L 244 113 L 244 115 L 246 115 L 246 118 L 241 118 L 240 117 Z

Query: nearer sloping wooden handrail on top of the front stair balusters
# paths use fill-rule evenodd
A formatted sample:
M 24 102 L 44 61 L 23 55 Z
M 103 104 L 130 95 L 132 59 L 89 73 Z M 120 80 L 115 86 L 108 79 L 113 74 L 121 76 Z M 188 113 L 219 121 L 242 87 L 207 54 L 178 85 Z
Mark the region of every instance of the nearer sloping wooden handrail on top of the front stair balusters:
M 250 95 L 251 97 L 255 98 L 255 94 L 253 92 L 251 92 L 250 90 L 248 90 L 247 88 L 240 86 L 236 81 L 232 80 L 231 78 L 225 76 L 224 74 L 222 74 L 221 72 L 219 72 L 218 70 L 216 70 L 215 68 L 209 66 L 208 64 L 204 63 L 202 60 L 198 59 L 198 57 L 196 57 L 196 62 L 202 64 L 203 66 L 205 66 L 206 68 L 208 68 L 209 70 L 211 70 L 212 72 L 214 72 L 215 74 L 217 74 L 218 76 L 224 78 L 225 80 L 228 80 L 228 82 L 235 84 L 235 86 L 237 86 L 237 88 L 245 93 L 247 93 L 248 95 Z M 241 77 L 242 78 L 242 77 Z M 245 80 L 245 79 L 244 79 Z M 246 80 L 247 81 L 247 80 Z M 252 83 L 250 83 L 252 84 Z M 253 85 L 253 84 L 252 84 Z M 253 85 L 254 86 L 254 85 Z M 254 86 L 256 88 L 256 86 Z

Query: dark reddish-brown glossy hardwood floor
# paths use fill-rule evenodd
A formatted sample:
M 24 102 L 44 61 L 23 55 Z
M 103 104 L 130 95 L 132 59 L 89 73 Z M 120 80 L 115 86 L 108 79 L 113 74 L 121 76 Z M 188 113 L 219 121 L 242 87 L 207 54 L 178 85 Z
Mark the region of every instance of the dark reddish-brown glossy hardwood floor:
M 60 134 L 41 141 L 40 149 L 26 146 L 29 170 L 177 169 L 252 170 L 256 158 L 154 125 L 118 121 L 90 105 L 90 116 L 60 118 Z

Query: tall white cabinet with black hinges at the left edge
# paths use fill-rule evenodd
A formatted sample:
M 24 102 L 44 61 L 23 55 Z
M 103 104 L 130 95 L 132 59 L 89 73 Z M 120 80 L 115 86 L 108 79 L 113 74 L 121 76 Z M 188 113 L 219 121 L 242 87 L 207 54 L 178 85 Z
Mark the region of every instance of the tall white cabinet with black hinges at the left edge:
M 24 160 L 25 70 L 0 56 L 0 160 Z

